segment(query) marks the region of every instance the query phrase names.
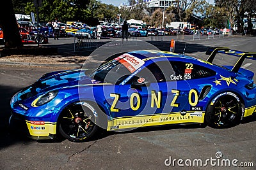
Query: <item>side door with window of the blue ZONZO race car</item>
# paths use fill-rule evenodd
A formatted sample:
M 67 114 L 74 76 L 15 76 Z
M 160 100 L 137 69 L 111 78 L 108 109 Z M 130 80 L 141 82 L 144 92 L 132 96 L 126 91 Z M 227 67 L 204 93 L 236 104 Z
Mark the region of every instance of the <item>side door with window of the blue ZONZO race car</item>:
M 120 85 L 115 94 L 117 110 L 111 115 L 135 117 L 184 110 L 190 89 L 183 76 L 173 73 L 168 60 L 150 64 Z

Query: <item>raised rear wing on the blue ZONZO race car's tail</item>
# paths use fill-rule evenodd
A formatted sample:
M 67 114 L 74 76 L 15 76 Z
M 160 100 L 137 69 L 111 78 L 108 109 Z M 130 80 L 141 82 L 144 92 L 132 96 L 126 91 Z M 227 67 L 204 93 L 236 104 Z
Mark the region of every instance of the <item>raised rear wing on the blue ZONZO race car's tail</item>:
M 246 53 L 246 52 L 240 52 L 237 50 L 230 50 L 227 47 L 212 47 L 205 52 L 206 55 L 210 55 L 207 59 L 207 62 L 213 61 L 214 57 L 216 56 L 217 53 L 224 53 L 227 55 L 234 55 L 236 57 L 240 57 L 239 60 L 237 60 L 235 66 L 232 68 L 231 71 L 238 72 L 240 67 L 242 66 L 244 59 L 252 59 L 256 60 L 256 53 Z

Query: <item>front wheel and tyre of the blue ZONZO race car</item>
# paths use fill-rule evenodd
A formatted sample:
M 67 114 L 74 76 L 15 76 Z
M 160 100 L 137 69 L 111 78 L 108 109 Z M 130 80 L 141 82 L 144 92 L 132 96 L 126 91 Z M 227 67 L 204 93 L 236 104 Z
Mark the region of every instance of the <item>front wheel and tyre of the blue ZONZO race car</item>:
M 65 108 L 59 118 L 60 134 L 74 142 L 91 139 L 99 129 L 96 125 L 97 112 L 88 103 L 74 103 Z

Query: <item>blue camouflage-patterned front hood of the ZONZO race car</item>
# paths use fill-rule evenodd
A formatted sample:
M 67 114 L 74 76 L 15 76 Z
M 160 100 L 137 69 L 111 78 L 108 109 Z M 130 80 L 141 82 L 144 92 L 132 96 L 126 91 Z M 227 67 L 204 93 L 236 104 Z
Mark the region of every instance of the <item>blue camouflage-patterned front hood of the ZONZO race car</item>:
M 44 74 L 38 81 L 19 92 L 19 99 L 28 99 L 51 90 L 77 88 L 78 85 L 92 85 L 95 81 L 86 76 L 84 70 L 57 71 Z

